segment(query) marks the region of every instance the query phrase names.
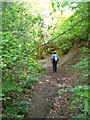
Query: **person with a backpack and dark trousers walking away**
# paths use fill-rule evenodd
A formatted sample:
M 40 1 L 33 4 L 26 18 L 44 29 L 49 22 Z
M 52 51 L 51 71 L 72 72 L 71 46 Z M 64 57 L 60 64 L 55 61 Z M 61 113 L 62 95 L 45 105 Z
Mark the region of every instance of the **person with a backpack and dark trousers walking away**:
M 53 72 L 56 72 L 56 70 L 57 70 L 57 62 L 59 61 L 59 57 L 56 54 L 56 51 L 53 52 L 53 55 L 51 57 L 51 61 L 52 61 L 52 64 L 53 64 Z

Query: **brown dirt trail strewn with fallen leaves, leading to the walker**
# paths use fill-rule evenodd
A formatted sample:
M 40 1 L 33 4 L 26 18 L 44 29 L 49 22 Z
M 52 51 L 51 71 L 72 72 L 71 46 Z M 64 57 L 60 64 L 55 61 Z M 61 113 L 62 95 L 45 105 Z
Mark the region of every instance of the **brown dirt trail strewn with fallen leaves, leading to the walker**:
M 41 65 L 47 67 L 47 72 L 35 86 L 34 95 L 30 103 L 30 118 L 71 117 L 72 111 L 68 110 L 68 106 L 70 105 L 69 100 L 73 95 L 70 92 L 58 95 L 57 91 L 65 89 L 67 86 L 74 86 L 74 70 L 70 68 L 80 58 L 78 51 L 61 58 L 56 73 L 52 72 L 50 57 L 46 58 L 45 64 L 43 64 L 42 60 L 39 61 Z

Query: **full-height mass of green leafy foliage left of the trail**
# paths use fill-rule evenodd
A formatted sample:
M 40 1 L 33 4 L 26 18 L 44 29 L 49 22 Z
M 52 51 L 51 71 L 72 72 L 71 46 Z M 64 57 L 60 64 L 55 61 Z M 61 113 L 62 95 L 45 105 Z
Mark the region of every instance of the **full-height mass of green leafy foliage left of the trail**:
M 28 13 L 19 2 L 3 2 L 2 11 L 2 119 L 27 119 L 29 106 L 22 96 L 45 70 L 34 60 L 35 53 L 29 54 L 38 45 L 36 34 L 40 31 L 34 28 L 37 23 L 41 26 L 43 20 L 40 15 Z

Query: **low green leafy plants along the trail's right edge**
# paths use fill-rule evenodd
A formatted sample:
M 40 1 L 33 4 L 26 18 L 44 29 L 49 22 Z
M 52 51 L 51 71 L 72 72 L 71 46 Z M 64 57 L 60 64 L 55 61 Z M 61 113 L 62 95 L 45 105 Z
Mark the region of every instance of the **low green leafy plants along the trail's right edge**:
M 77 80 L 76 86 L 73 88 L 71 86 L 67 86 L 66 89 L 58 90 L 58 94 L 62 94 L 67 91 L 71 91 L 73 93 L 73 97 L 71 98 L 71 105 L 69 106 L 69 110 L 73 111 L 74 109 L 78 109 L 81 114 L 77 116 L 77 118 L 85 118 L 88 119 L 90 115 L 89 110 L 89 101 L 90 101 L 90 85 L 87 83 L 89 72 L 88 72 L 88 48 L 82 49 L 82 58 L 81 61 L 74 66 L 76 69 Z M 79 78 L 78 78 L 79 77 Z M 81 84 L 81 82 L 83 82 Z M 74 116 L 73 116 L 74 118 Z

